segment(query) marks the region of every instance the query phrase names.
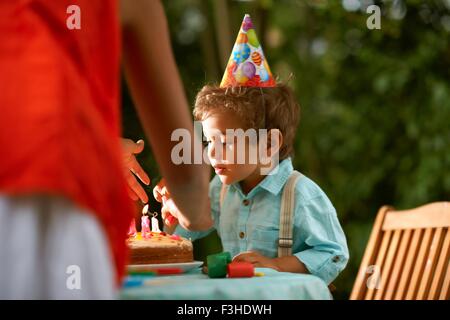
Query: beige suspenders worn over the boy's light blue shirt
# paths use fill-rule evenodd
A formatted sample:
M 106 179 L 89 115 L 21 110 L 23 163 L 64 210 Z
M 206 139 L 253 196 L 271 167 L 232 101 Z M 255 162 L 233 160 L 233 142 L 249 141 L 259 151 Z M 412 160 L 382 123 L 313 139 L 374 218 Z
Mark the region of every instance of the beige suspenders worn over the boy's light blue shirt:
M 280 231 L 278 234 L 278 257 L 292 255 L 292 219 L 295 212 L 295 185 L 300 177 L 300 172 L 294 170 L 283 188 L 280 208 Z M 227 191 L 228 186 L 222 184 L 219 198 L 221 209 Z

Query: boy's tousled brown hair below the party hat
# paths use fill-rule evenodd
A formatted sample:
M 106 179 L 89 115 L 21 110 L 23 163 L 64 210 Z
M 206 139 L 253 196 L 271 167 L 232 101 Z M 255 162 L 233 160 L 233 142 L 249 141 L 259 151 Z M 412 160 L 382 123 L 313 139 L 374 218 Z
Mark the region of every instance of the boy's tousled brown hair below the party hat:
M 300 106 L 287 85 L 271 88 L 204 86 L 195 99 L 195 120 L 203 121 L 220 111 L 234 112 L 243 120 L 244 130 L 279 129 L 283 135 L 280 160 L 293 156 Z

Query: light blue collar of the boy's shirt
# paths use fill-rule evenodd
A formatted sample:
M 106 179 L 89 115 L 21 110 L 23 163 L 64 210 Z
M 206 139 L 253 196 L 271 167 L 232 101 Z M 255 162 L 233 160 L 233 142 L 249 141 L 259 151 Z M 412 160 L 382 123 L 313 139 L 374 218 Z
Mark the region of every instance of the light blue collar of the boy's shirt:
M 281 161 L 272 171 L 267 175 L 252 191 L 248 194 L 248 197 L 252 197 L 260 188 L 269 191 L 274 195 L 278 195 L 281 189 L 289 179 L 294 168 L 292 167 L 291 158 L 286 158 Z M 233 183 L 232 186 L 242 193 L 239 182 Z

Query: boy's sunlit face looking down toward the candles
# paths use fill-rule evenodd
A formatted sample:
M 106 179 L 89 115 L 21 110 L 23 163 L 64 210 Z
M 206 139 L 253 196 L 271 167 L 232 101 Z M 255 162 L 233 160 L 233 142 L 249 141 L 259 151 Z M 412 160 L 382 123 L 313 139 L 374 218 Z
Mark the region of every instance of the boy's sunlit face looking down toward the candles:
M 236 136 L 228 139 L 231 141 L 226 141 L 227 129 L 244 128 L 244 124 L 234 113 L 212 113 L 202 124 L 208 142 L 208 158 L 222 183 L 229 185 L 259 174 L 258 161 L 249 161 L 251 154 L 257 154 L 258 144 L 245 138 L 241 140 L 242 145 L 239 145 Z M 242 152 L 245 154 L 240 155 Z M 239 161 L 239 157 L 244 157 L 241 158 L 244 161 Z

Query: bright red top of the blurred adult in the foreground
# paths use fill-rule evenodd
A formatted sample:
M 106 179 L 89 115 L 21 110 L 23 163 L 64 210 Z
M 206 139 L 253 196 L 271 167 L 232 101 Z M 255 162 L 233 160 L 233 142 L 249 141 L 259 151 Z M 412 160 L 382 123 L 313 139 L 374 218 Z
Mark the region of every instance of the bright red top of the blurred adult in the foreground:
M 70 5 L 80 30 L 67 27 Z M 133 213 L 118 141 L 119 60 L 117 1 L 0 1 L 0 193 L 51 193 L 90 209 L 118 279 Z

